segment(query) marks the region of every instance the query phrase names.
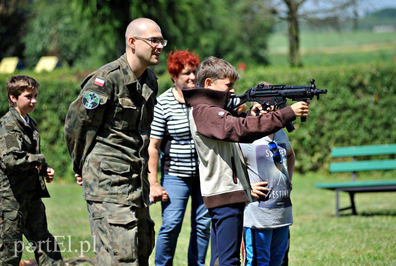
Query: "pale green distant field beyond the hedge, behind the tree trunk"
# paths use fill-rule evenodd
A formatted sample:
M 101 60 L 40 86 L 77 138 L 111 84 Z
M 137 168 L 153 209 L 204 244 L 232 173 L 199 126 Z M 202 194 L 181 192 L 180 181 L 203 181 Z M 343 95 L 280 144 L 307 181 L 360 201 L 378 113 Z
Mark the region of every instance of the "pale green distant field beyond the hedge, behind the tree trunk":
M 396 32 L 302 32 L 300 55 L 304 65 L 334 65 L 374 60 L 395 60 Z M 269 37 L 271 65 L 288 63 L 288 37 L 275 33 Z

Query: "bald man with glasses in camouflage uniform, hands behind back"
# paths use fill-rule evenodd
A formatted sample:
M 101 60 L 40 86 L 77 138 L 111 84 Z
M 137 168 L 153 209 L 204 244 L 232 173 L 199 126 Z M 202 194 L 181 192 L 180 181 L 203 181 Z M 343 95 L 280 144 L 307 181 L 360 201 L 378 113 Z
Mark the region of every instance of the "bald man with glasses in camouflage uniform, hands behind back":
M 163 40 L 147 18 L 126 30 L 126 53 L 90 74 L 71 103 L 65 140 L 82 180 L 99 265 L 148 265 L 154 247 L 148 142 Z M 82 178 L 82 179 L 81 179 Z

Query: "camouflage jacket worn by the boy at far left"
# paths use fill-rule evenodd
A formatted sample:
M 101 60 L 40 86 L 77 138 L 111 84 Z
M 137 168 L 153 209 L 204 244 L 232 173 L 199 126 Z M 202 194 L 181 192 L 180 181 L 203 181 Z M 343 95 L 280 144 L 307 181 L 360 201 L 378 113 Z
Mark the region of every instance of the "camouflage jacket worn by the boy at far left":
M 11 107 L 0 120 L 0 145 L 0 197 L 34 190 L 41 197 L 49 197 L 43 178 L 49 166 L 40 153 L 40 135 L 33 119 L 29 117 L 26 124 Z M 39 166 L 43 166 L 40 173 L 36 169 Z

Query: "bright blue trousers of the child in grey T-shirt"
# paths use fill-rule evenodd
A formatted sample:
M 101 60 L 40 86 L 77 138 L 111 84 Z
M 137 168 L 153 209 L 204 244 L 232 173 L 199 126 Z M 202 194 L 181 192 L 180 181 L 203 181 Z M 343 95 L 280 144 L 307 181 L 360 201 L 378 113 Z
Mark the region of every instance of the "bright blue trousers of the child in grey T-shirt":
M 247 265 L 280 266 L 288 245 L 289 226 L 275 229 L 244 227 Z

